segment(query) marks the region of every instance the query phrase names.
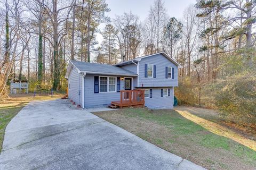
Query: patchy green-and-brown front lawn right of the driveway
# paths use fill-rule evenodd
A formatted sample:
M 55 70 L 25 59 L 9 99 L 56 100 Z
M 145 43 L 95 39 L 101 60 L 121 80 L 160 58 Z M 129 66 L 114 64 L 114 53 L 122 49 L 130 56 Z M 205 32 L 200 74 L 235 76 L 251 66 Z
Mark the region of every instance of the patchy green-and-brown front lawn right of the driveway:
M 190 120 L 176 111 L 163 109 L 151 111 L 146 108 L 125 108 L 98 112 L 95 115 L 138 135 L 154 145 L 186 158 L 209 169 L 255 169 L 256 151 L 239 141 L 244 137 L 235 135 L 209 121 L 217 115 L 197 115 Z M 202 120 L 203 119 L 203 120 Z M 203 121 L 203 123 L 202 123 Z M 209 128 L 210 127 L 210 128 Z M 225 137 L 227 135 L 227 137 Z M 256 146 L 256 141 L 251 140 Z

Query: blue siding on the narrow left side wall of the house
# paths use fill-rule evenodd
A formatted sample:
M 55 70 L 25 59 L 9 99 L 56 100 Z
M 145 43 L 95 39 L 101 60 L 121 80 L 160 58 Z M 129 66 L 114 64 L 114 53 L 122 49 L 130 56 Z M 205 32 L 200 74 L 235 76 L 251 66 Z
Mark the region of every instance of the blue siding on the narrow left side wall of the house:
M 82 75 L 79 75 L 77 69 L 73 69 L 69 73 L 69 89 L 68 98 L 75 101 L 77 105 L 82 106 Z

